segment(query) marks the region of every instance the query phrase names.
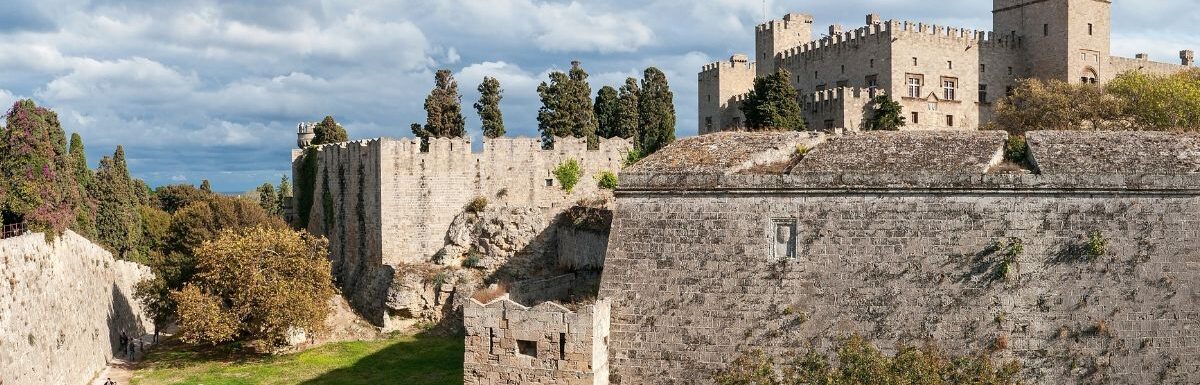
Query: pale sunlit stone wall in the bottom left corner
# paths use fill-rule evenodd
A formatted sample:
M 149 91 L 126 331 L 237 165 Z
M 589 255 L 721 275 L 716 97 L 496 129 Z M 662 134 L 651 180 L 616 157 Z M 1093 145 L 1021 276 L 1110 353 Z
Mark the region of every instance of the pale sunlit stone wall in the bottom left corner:
M 150 269 L 72 231 L 0 240 L 0 384 L 86 384 L 120 354 L 121 331 L 152 333 L 133 288 Z

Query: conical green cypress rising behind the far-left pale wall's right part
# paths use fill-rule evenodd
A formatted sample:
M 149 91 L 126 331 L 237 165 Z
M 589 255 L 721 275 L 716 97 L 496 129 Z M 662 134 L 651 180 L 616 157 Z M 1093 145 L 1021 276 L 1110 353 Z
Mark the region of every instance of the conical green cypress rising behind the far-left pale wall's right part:
M 142 242 L 138 197 L 125 163 L 125 149 L 116 146 L 113 157 L 100 161 L 96 172 L 96 231 L 100 242 L 119 258 L 136 260 Z

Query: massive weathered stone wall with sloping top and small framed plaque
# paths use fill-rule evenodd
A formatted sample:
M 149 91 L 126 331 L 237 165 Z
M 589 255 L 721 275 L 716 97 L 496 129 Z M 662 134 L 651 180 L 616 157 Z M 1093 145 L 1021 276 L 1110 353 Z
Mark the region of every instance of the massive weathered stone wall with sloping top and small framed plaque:
M 1002 132 L 728 132 L 626 169 L 611 381 L 708 384 L 851 333 L 992 351 L 1032 384 L 1200 381 L 1200 136 L 1027 138 L 1016 167 Z

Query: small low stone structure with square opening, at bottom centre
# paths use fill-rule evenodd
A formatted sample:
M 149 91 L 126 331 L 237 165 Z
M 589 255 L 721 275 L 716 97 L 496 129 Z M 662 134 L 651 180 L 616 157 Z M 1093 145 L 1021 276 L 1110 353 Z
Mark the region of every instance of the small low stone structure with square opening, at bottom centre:
M 576 275 L 536 279 L 486 302 L 468 300 L 463 383 L 608 384 L 610 302 L 563 306 L 541 300 L 566 300 L 581 281 L 587 279 Z M 518 302 L 526 300 L 530 302 Z

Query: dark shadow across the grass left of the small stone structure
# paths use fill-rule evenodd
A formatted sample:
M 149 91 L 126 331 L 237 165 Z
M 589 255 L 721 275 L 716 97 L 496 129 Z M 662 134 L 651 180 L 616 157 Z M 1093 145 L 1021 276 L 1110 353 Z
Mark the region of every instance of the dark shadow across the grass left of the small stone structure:
M 421 333 L 301 384 L 462 384 L 462 360 L 461 336 Z

